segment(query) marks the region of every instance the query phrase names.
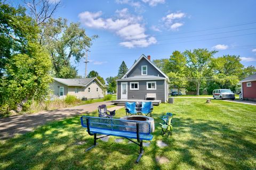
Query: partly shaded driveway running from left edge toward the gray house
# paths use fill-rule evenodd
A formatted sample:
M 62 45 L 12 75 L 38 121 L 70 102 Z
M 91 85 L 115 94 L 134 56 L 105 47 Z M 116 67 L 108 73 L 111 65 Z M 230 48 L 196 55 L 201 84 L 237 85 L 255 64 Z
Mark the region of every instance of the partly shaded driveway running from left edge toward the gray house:
M 0 119 L 0 140 L 11 138 L 15 134 L 23 134 L 33 131 L 36 126 L 43 125 L 49 121 L 61 120 L 66 117 L 93 112 L 102 104 L 109 106 L 111 105 L 111 101 L 2 118 Z M 114 109 L 120 109 L 122 107 L 124 106 L 110 107 L 108 110 L 113 111 Z

